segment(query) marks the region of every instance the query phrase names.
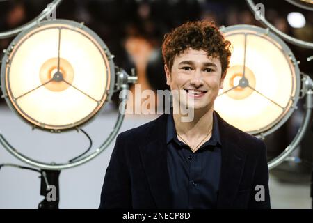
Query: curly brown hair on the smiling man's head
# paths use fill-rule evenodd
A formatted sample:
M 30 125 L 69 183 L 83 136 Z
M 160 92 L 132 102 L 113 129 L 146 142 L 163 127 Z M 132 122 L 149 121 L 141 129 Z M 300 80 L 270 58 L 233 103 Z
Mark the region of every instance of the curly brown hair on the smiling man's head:
M 204 50 L 208 56 L 218 57 L 222 75 L 230 65 L 230 41 L 225 40 L 214 22 L 205 20 L 186 22 L 170 33 L 166 33 L 162 44 L 162 55 L 166 66 L 171 70 L 175 56 L 189 48 Z

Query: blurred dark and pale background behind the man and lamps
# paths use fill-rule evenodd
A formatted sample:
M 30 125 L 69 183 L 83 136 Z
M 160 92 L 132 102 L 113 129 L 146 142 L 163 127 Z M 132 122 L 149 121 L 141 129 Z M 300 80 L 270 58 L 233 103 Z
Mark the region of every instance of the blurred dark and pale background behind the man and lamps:
M 0 32 L 21 26 L 36 17 L 50 1 L 0 0 Z M 300 40 L 313 42 L 313 12 L 280 1 L 255 1 L 265 6 L 266 19 L 280 31 Z M 298 12 L 305 22 L 294 17 L 287 20 L 289 13 Z M 115 55 L 115 64 L 130 73 L 136 68 L 141 91 L 145 89 L 167 89 L 163 72 L 161 43 L 165 33 L 179 24 L 192 20 L 214 20 L 218 26 L 252 24 L 262 26 L 252 14 L 246 1 L 205 0 L 66 0 L 56 9 L 60 19 L 84 22 L 95 31 Z M 263 27 L 263 26 L 262 26 Z M 14 37 L 13 37 L 14 38 Z M 13 38 L 0 39 L 0 49 L 6 49 Z M 287 43 L 300 61 L 302 72 L 312 77 L 312 56 L 310 49 L 303 49 Z M 131 91 L 134 91 L 131 88 Z M 134 106 L 141 106 L 141 100 Z M 156 100 L 156 103 L 158 101 Z M 99 145 L 109 134 L 118 112 L 118 94 L 106 105 L 102 113 L 84 128 Z M 282 128 L 266 137 L 268 159 L 280 154 L 294 139 L 303 117 L 303 100 L 298 109 Z M 134 128 L 157 118 L 157 115 L 126 116 L 120 131 Z M 113 127 L 112 127 L 113 128 Z M 13 141 L 13 145 L 30 157 L 49 160 L 70 159 L 81 153 L 88 141 L 77 132 L 49 134 L 32 131 L 8 109 L 3 98 L 0 100 L 0 130 Z M 310 174 L 313 160 L 312 128 L 294 156 L 303 162 L 284 162 L 271 170 L 270 190 L 272 208 L 311 208 Z M 113 143 L 95 160 L 83 166 L 61 172 L 60 208 L 97 208 L 102 182 Z M 22 164 L 0 146 L 0 163 Z M 43 199 L 39 195 L 40 179 L 35 172 L 6 167 L 0 169 L 0 208 L 37 208 Z

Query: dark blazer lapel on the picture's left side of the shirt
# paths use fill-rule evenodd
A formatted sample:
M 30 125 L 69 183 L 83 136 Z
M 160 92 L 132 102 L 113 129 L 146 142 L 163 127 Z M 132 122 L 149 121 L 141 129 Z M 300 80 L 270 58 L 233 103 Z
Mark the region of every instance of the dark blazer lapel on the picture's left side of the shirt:
M 164 114 L 156 120 L 141 148 L 143 167 L 157 208 L 172 208 L 166 160 L 166 121 L 167 115 Z

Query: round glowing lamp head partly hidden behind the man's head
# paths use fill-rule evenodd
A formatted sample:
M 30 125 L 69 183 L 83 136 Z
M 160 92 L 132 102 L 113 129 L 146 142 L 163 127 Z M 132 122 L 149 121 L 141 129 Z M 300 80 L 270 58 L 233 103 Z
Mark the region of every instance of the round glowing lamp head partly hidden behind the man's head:
M 268 29 L 236 25 L 221 31 L 232 43 L 232 56 L 214 109 L 244 132 L 270 134 L 287 121 L 298 102 L 296 59 Z

